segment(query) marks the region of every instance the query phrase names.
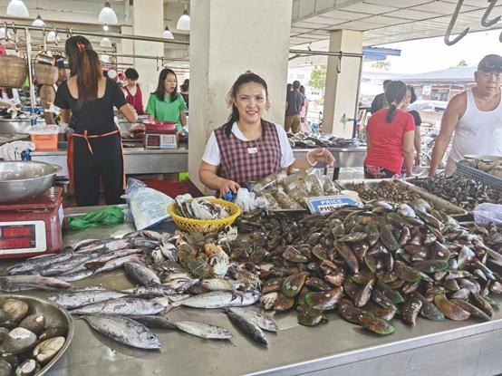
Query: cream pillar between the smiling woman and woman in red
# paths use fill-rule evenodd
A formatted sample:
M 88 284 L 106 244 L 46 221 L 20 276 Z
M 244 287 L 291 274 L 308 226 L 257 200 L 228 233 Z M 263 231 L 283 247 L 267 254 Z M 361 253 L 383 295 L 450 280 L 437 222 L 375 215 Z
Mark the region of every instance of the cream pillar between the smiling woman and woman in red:
M 362 53 L 362 32 L 352 30 L 336 30 L 330 34 L 329 51 L 343 53 Z M 335 136 L 351 138 L 352 121 L 341 122 L 345 118 L 353 118 L 357 105 L 357 87 L 359 67 L 362 59 L 344 56 L 342 62 L 337 56 L 328 58 L 326 72 L 326 90 L 324 93 L 323 132 Z M 338 71 L 341 71 L 340 73 Z

